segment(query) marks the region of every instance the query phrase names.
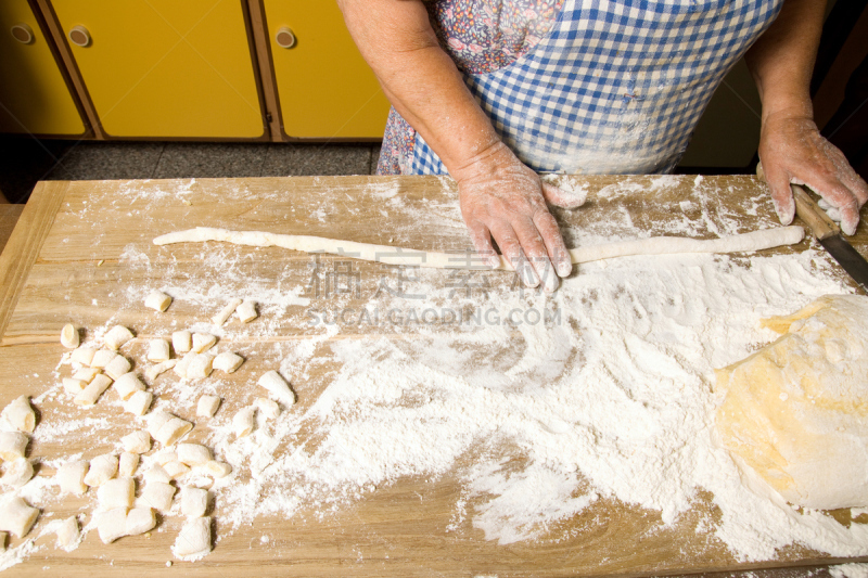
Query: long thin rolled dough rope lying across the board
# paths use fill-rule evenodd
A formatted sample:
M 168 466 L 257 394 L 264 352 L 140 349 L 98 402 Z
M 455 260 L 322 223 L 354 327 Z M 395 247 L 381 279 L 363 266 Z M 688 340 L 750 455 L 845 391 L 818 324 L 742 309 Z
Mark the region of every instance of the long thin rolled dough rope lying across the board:
M 614 257 L 627 257 L 630 255 L 741 253 L 778 247 L 781 245 L 792 245 L 802 241 L 804 236 L 804 229 L 796 226 L 778 227 L 775 229 L 709 240 L 655 236 L 578 247 L 570 251 L 570 257 L 574 264 L 579 264 L 612 259 Z M 480 268 L 482 265 L 480 259 L 471 259 L 464 254 L 403 249 L 400 247 L 390 247 L 387 245 L 372 245 L 320 236 L 284 235 L 261 231 L 229 231 L 227 229 L 213 229 L 209 227 L 196 227 L 195 229 L 159 235 L 154 239 L 154 244 L 170 245 L 173 243 L 204 241 L 222 241 L 251 247 L 282 247 L 307 253 L 329 253 L 331 255 L 354 257 L 385 265 L 409 265 L 435 269 L 469 269 Z M 500 266 L 497 269 L 505 271 L 513 270 L 512 266 L 502 256 L 500 257 Z

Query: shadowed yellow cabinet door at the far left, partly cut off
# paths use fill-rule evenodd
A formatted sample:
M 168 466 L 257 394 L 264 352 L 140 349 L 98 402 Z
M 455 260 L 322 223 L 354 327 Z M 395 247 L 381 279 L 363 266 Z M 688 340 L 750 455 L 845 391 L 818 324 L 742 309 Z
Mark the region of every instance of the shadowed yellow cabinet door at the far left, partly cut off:
M 75 100 L 27 0 L 0 2 L 0 132 L 85 132 Z

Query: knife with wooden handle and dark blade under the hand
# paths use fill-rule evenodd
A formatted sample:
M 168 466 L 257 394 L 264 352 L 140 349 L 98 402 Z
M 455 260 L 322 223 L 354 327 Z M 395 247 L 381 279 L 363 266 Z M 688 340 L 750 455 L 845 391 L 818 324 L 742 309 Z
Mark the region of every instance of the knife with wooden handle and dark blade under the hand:
M 820 245 L 868 293 L 868 261 L 841 235 L 841 229 L 799 184 L 791 184 L 795 214 L 807 223 Z

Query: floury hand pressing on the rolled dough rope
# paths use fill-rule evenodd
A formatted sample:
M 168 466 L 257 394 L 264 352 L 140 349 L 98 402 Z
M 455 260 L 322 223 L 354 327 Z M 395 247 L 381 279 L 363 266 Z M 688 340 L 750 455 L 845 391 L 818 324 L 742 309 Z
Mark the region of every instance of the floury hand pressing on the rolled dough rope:
M 452 176 L 470 236 L 488 264 L 499 264 L 494 237 L 525 285 L 541 283 L 549 292 L 558 288 L 558 277 L 569 275 L 573 265 L 546 201 L 565 208 L 582 201 L 540 181 L 499 141 Z

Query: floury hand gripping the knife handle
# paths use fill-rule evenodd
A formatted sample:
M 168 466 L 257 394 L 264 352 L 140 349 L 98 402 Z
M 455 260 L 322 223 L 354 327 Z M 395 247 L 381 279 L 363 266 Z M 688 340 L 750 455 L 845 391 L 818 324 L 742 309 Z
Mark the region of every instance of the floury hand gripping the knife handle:
M 841 229 L 852 235 L 859 208 L 868 201 L 868 184 L 844 154 L 822 138 L 808 116 L 778 113 L 763 123 L 760 160 L 783 224 L 795 215 L 790 183 L 806 184 L 841 215 Z

